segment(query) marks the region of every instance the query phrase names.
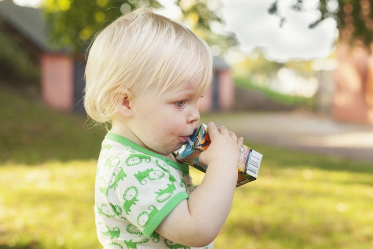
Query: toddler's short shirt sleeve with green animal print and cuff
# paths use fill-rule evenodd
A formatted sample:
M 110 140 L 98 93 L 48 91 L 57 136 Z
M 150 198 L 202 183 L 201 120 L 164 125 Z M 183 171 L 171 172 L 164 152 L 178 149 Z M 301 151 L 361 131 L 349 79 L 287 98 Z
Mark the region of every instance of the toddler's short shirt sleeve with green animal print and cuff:
M 121 215 L 150 238 L 162 220 L 188 198 L 181 182 L 182 173 L 162 160 L 131 154 L 114 170 L 108 198 L 119 201 Z

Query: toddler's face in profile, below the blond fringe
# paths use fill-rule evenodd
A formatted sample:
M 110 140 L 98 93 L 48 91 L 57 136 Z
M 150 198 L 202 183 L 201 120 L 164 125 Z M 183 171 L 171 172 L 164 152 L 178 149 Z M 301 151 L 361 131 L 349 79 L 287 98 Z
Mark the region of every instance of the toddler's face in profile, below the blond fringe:
M 169 155 L 187 142 L 198 126 L 197 88 L 201 76 L 191 81 L 184 89 L 175 92 L 170 88 L 159 97 L 150 89 L 132 100 L 133 116 L 129 129 L 133 141 L 162 155 Z M 131 138 L 129 138 L 131 139 Z

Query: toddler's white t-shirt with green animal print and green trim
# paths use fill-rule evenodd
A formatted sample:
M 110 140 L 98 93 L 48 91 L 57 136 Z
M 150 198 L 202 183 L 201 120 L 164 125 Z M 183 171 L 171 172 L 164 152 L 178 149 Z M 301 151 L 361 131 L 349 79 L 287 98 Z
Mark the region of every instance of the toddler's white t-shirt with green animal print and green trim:
M 194 248 L 155 232 L 193 189 L 187 164 L 108 132 L 102 142 L 95 182 L 98 240 L 108 249 Z M 201 248 L 213 249 L 213 244 Z

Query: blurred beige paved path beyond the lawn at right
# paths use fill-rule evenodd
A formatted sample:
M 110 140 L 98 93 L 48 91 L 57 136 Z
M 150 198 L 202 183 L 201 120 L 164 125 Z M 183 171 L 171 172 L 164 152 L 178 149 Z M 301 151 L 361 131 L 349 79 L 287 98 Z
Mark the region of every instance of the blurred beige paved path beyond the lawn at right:
M 255 142 L 372 163 L 373 126 L 340 123 L 306 112 L 213 115 L 217 125 Z M 224 118 L 225 117 L 225 118 Z M 202 122 L 206 122 L 202 119 Z

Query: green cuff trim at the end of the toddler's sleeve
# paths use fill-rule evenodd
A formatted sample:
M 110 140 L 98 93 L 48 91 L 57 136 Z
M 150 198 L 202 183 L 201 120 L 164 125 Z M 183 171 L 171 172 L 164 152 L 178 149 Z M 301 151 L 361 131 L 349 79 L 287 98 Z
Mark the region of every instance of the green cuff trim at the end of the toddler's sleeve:
M 180 192 L 173 196 L 159 211 L 158 213 L 153 217 L 153 219 L 150 220 L 147 227 L 145 227 L 144 231 L 142 232 L 145 237 L 150 239 L 152 235 L 155 232 L 155 229 L 159 226 L 159 224 L 162 222 L 162 220 L 168 216 L 171 211 L 183 200 L 188 199 L 189 196 L 185 192 Z M 154 232 L 154 233 L 153 233 Z

